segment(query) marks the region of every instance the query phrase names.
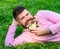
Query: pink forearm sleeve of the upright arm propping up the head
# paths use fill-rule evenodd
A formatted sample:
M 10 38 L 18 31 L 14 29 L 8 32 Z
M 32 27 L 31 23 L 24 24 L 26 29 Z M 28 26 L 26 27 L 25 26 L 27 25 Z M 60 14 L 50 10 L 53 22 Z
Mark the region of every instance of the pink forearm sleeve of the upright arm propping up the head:
M 6 38 L 5 38 L 5 46 L 13 45 L 15 30 L 16 30 L 15 25 L 11 25 L 9 27 Z

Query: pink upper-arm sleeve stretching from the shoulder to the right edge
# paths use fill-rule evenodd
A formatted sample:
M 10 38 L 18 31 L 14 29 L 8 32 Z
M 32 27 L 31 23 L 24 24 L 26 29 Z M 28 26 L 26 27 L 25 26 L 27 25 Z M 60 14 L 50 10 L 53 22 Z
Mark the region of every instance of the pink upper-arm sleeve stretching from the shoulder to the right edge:
M 57 23 L 58 21 L 60 21 L 60 14 L 53 11 L 39 10 L 37 14 L 39 15 L 39 17 L 47 19 L 53 23 Z

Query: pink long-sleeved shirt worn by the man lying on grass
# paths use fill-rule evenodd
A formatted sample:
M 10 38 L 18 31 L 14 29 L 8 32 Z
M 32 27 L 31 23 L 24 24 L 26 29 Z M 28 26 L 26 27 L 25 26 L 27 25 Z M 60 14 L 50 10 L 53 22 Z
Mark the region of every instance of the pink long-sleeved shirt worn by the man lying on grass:
M 37 36 L 24 29 L 22 34 L 14 38 L 16 26 L 11 25 L 5 38 L 5 46 L 16 46 L 26 42 L 43 43 L 60 41 L 60 14 L 48 10 L 40 10 L 34 17 L 37 19 L 38 25 L 49 28 L 52 34 Z

